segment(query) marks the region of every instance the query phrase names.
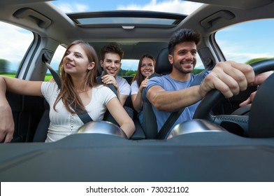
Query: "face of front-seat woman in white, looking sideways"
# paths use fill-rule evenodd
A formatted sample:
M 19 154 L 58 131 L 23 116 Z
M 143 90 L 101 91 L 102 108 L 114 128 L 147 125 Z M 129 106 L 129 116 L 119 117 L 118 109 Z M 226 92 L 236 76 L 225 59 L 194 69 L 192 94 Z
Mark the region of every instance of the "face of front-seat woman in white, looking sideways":
M 89 62 L 85 50 L 79 44 L 71 45 L 63 58 L 63 67 L 71 76 L 85 76 L 87 71 L 93 69 L 94 62 Z

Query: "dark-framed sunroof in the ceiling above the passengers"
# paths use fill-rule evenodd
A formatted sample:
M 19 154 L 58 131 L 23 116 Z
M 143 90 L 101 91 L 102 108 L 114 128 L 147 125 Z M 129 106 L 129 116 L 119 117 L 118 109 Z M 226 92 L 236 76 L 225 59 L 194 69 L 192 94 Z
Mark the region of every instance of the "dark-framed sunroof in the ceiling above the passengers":
M 67 14 L 80 27 L 174 27 L 187 15 L 138 10 Z

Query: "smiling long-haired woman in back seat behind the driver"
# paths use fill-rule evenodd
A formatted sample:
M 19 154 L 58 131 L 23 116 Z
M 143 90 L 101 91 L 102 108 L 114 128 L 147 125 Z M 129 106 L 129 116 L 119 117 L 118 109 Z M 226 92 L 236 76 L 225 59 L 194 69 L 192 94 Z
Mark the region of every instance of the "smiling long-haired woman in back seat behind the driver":
M 140 57 L 137 73 L 131 83 L 131 100 L 134 109 L 138 112 L 140 124 L 143 123 L 142 91 L 147 86 L 148 78 L 154 73 L 155 59 L 152 55 L 145 54 Z

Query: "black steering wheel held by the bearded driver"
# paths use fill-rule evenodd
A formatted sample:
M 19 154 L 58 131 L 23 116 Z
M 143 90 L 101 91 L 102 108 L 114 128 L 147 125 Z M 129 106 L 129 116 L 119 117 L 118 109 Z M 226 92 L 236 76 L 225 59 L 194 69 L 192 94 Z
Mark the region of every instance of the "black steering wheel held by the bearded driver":
M 252 66 L 255 75 L 271 71 L 274 69 L 274 59 L 268 59 L 261 62 L 255 62 L 250 64 Z M 211 90 L 206 94 L 194 113 L 194 119 L 206 119 L 212 123 L 221 125 L 223 122 L 230 122 L 240 126 L 245 135 L 248 135 L 249 116 L 237 116 L 237 115 L 211 115 L 211 109 L 220 101 L 224 99 L 224 95 L 219 90 Z

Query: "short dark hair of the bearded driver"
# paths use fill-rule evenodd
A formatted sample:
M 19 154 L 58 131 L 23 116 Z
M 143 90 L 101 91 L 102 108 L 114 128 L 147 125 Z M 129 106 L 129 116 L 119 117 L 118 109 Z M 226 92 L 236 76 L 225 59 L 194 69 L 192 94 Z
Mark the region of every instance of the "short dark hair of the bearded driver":
M 168 43 L 169 54 L 173 54 L 175 45 L 185 41 L 194 41 L 198 45 L 201 41 L 201 34 L 193 29 L 179 29 L 175 31 Z

